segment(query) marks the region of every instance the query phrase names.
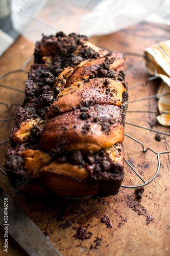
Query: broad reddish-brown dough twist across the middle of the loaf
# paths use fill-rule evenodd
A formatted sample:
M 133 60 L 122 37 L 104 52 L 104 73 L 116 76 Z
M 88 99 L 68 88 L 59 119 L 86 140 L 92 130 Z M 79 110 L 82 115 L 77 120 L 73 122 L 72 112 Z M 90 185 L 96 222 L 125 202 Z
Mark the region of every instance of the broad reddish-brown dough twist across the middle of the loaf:
M 84 114 L 87 118 L 84 119 Z M 88 112 L 77 109 L 51 118 L 44 126 L 39 147 L 50 150 L 98 151 L 124 140 L 122 109 L 114 105 L 94 105 Z

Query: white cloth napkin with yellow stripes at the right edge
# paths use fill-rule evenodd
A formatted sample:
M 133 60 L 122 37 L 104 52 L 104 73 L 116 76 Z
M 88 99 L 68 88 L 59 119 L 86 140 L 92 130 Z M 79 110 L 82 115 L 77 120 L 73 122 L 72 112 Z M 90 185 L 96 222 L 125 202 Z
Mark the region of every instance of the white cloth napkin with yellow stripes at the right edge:
M 170 40 L 145 49 L 144 54 L 147 57 L 149 73 L 162 79 L 157 94 L 165 94 L 158 96 L 160 115 L 157 116 L 157 120 L 162 125 L 170 126 Z

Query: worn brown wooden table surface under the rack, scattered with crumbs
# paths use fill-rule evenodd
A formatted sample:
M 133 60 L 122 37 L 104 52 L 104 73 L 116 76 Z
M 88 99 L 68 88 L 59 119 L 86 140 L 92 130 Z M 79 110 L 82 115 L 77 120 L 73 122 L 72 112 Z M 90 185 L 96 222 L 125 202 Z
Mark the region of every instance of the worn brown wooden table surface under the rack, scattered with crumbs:
M 94 36 L 90 41 L 95 45 L 104 46 L 121 52 L 135 52 L 143 54 L 145 48 L 156 42 L 170 38 L 167 26 L 140 23 L 122 31 Z M 33 54 L 34 44 L 23 37 L 19 37 L 14 45 L 0 58 L 1 75 L 20 69 L 22 63 Z M 125 69 L 129 70 L 139 57 L 126 56 Z M 26 70 L 29 70 L 30 64 Z M 129 88 L 139 81 L 145 82 L 149 77 L 145 62 L 126 76 Z M 1 79 L 1 84 L 24 90 L 27 74 L 16 73 Z M 138 86 L 130 90 L 129 100 L 154 95 L 157 91 L 158 80 L 149 82 L 147 87 Z M 24 94 L 0 88 L 0 101 L 22 103 Z M 17 107 L 8 110 L 0 105 L 1 119 L 14 117 Z M 156 99 L 142 100 L 129 103 L 128 110 L 157 110 Z M 151 127 L 169 133 L 169 127 L 163 127 L 156 121 L 155 114 L 127 113 L 127 122 L 145 127 Z M 1 122 L 0 141 L 9 138 L 14 121 Z M 144 147 L 151 147 L 154 151 L 169 150 L 169 136 L 161 135 L 161 141 L 155 139 L 155 132 L 126 124 L 125 132 L 140 140 Z M 8 143 L 0 148 L 1 167 Z M 132 139 L 125 137 L 125 157 L 146 181 L 154 175 L 157 169 L 157 155 L 148 151 L 142 152 L 142 147 Z M 65 256 L 69 255 L 170 255 L 170 186 L 169 186 L 169 155 L 160 155 L 160 170 L 153 182 L 144 187 L 141 200 L 136 198 L 135 189 L 121 188 L 116 196 L 106 198 L 89 197 L 81 200 L 68 200 L 57 196 L 35 197 L 14 193 L 6 176 L 0 174 L 0 185 L 17 205 L 48 234 L 51 242 Z M 142 184 L 133 174 L 132 169 L 125 164 L 125 185 Z M 107 227 L 101 219 L 108 215 L 112 226 Z M 82 226 L 88 239 L 80 240 L 74 235 Z M 19 227 L 18 227 L 19 228 Z M 4 230 L 0 229 L 0 254 L 4 252 Z M 38 243 L 38 240 L 37 240 Z M 16 242 L 9 238 L 8 255 L 25 256 Z M 42 254 L 40 254 L 42 255 Z M 47 255 L 47 254 L 45 254 Z

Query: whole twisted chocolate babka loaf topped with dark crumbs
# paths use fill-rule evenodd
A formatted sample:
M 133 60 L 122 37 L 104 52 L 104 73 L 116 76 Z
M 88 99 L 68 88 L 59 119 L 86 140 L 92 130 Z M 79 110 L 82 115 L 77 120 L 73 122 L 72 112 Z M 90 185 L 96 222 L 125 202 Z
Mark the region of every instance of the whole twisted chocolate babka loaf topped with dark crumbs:
M 124 55 L 63 32 L 36 43 L 5 170 L 29 194 L 115 195 L 124 178 Z

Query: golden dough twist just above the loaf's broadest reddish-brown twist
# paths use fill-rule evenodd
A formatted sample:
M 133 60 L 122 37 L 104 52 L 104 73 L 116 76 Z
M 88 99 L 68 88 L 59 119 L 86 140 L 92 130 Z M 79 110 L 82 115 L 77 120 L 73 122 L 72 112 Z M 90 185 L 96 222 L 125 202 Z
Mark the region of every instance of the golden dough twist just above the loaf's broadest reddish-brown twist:
M 47 111 L 47 117 L 82 108 L 85 104 L 122 104 L 123 93 L 127 91 L 122 81 L 108 78 L 93 78 L 72 83 L 58 94 L 56 101 Z

